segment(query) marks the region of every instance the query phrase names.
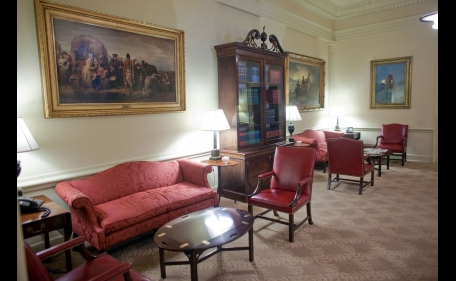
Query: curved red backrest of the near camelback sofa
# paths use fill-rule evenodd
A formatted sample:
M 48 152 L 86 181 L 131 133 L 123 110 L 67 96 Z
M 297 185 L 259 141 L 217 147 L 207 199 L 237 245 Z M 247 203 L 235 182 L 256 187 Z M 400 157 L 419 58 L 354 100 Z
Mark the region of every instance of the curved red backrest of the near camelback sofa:
M 145 190 L 183 181 L 177 161 L 132 161 L 116 165 L 82 180 L 71 181 L 93 205 L 113 201 Z

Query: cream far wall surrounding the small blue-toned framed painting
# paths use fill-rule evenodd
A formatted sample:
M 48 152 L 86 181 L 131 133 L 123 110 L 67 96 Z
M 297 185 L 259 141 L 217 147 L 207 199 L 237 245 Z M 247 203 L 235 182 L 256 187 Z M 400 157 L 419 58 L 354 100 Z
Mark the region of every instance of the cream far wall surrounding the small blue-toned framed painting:
M 412 56 L 410 109 L 370 109 L 370 61 Z M 381 124 L 409 125 L 407 155 L 433 161 L 437 118 L 438 31 L 422 28 L 336 42 L 331 93 L 347 115 L 340 126 L 360 128 L 365 143 L 375 143 Z

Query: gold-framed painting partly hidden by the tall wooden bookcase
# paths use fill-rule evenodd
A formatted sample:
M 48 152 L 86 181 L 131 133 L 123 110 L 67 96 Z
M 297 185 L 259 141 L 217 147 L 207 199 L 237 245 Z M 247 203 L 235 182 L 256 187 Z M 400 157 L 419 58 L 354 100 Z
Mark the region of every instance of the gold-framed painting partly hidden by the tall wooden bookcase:
M 325 107 L 325 64 L 322 59 L 287 52 L 285 88 L 287 105 L 299 112 Z

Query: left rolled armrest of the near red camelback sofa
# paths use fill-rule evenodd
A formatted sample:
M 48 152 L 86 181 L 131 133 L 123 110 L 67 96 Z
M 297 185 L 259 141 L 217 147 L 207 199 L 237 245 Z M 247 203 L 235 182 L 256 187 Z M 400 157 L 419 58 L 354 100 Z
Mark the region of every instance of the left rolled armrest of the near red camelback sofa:
M 70 209 L 75 210 L 75 212 L 71 212 L 72 220 L 77 219 L 86 225 L 91 225 L 98 230 L 102 230 L 95 216 L 95 208 L 92 201 L 84 193 L 74 188 L 67 181 L 58 183 L 55 186 L 55 193 L 68 204 Z

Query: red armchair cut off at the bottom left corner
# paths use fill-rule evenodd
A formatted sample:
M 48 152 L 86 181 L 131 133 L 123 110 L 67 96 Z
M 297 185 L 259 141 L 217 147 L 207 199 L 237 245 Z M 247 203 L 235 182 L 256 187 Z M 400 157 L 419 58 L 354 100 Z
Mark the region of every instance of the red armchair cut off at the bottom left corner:
M 53 281 L 53 280 L 136 280 L 150 281 L 140 273 L 131 269 L 130 262 L 120 262 L 108 255 L 104 254 L 94 256 L 90 254 L 84 246 L 85 238 L 79 236 L 75 239 L 68 240 L 62 244 L 45 249 L 35 253 L 27 242 L 24 241 L 25 258 L 27 262 L 27 272 L 29 281 Z M 86 263 L 74 268 L 56 279 L 53 279 L 47 268 L 43 264 L 46 258 L 54 257 L 65 250 L 79 246 L 80 253 L 87 260 Z

